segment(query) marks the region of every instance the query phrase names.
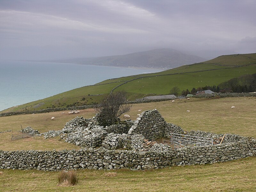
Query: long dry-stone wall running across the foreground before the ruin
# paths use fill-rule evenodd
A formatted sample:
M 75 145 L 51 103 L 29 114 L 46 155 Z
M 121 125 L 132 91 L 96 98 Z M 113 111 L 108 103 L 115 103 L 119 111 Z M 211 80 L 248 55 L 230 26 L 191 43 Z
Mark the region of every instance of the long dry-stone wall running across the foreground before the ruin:
M 248 147 L 250 145 L 251 149 Z M 161 146 L 161 145 L 158 145 Z M 172 165 L 212 164 L 231 161 L 256 153 L 256 140 L 218 144 L 208 147 L 152 147 L 150 151 L 108 150 L 83 148 L 61 151 L 0 151 L 0 169 L 119 169 L 132 170 L 164 168 Z

